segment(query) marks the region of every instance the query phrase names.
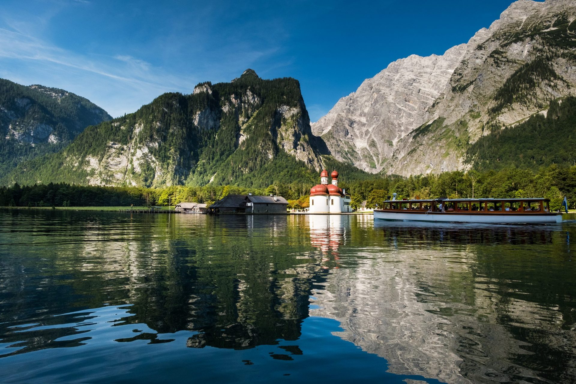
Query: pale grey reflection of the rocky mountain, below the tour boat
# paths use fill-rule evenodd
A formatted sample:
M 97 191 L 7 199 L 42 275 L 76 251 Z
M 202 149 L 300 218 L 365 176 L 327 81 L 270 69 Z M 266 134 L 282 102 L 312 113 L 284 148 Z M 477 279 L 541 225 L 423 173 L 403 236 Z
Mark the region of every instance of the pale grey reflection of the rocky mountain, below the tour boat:
M 558 243 L 559 227 L 375 226 L 380 252 L 342 260 L 354 268 L 331 273 L 314 292 L 320 309 L 312 314 L 338 320 L 340 337 L 388 360 L 393 373 L 448 383 L 574 377 L 575 361 L 555 352 L 576 345 L 565 328 L 573 311 L 548 301 L 570 288 L 555 284 L 541 296 L 532 283 L 545 279 L 525 271 L 518 248 Z M 557 359 L 564 372 L 554 372 Z

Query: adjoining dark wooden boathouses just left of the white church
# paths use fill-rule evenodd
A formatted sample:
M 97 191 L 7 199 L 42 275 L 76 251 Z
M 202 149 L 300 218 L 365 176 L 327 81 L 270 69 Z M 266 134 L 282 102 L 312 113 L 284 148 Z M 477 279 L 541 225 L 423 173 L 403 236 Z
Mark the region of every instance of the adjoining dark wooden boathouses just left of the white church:
M 282 196 L 228 195 L 209 207 L 213 214 L 285 214 L 288 201 Z

